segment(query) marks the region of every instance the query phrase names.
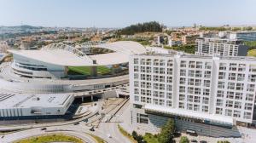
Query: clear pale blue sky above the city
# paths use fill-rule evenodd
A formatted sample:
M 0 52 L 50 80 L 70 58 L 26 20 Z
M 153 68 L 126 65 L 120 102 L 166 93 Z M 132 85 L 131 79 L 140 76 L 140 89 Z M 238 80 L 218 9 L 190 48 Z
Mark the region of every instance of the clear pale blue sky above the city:
M 256 0 L 0 0 L 0 26 L 256 25 Z

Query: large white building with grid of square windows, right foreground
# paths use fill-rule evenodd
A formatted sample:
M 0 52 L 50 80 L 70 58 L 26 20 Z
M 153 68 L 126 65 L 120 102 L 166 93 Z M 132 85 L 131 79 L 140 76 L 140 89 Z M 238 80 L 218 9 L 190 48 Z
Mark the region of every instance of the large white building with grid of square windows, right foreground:
M 157 133 L 172 117 L 179 130 L 241 136 L 236 124 L 253 123 L 255 65 L 256 59 L 248 57 L 134 55 L 130 61 L 131 123 Z

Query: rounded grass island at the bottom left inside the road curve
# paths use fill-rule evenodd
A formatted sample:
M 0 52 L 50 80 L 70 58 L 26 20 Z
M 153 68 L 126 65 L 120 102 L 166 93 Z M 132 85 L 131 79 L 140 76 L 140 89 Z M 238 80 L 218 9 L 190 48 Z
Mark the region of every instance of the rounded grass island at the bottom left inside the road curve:
M 15 143 L 50 143 L 50 142 L 73 142 L 83 143 L 83 140 L 65 134 L 48 134 L 37 137 L 31 137 L 24 140 L 15 141 Z

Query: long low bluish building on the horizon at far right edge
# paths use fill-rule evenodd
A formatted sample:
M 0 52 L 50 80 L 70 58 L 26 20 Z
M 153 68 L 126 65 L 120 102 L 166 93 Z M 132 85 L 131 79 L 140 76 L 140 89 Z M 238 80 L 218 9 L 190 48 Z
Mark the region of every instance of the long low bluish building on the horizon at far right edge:
M 231 32 L 230 39 L 238 39 L 242 41 L 256 41 L 256 31 Z

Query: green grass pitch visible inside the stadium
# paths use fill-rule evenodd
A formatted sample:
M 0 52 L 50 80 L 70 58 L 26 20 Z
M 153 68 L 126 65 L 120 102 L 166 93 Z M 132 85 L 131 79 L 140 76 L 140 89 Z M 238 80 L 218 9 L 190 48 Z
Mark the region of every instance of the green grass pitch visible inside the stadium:
M 90 66 L 69 66 L 68 74 L 70 75 L 90 75 Z M 106 75 L 111 72 L 107 66 L 97 66 L 97 74 Z

